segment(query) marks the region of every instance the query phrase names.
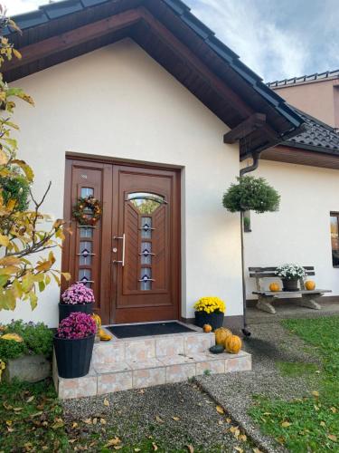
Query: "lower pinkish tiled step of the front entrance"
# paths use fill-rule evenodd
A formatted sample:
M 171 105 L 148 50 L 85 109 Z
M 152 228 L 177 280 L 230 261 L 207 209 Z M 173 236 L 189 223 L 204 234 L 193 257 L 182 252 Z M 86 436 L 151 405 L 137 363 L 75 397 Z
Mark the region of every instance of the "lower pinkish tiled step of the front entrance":
M 87 376 L 77 379 L 55 376 L 55 383 L 59 397 L 70 399 L 186 381 L 205 371 L 222 373 L 250 370 L 251 356 L 247 352 L 237 355 L 195 352 L 151 357 L 145 361 L 97 362 L 92 364 Z

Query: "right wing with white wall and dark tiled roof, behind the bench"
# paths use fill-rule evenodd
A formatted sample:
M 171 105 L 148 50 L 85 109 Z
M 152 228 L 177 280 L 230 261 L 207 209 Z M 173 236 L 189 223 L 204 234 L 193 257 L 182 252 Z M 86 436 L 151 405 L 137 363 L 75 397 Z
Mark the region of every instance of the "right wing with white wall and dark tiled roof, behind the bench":
M 306 130 L 261 154 L 256 176 L 281 195 L 277 213 L 250 214 L 248 266 L 315 266 L 318 287 L 339 295 L 339 134 L 302 111 Z M 253 279 L 251 279 L 253 280 Z M 248 298 L 254 283 L 249 281 Z

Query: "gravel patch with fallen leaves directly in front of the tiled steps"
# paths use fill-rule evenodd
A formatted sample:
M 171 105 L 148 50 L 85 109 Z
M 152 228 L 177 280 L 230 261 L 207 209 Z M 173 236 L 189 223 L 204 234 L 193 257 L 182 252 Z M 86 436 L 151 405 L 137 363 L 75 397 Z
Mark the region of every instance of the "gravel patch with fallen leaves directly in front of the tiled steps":
M 149 436 L 158 451 L 188 451 L 188 445 L 195 452 L 234 452 L 235 447 L 253 451 L 248 441 L 235 439 L 230 419 L 220 415 L 215 402 L 193 382 L 65 400 L 63 407 L 67 425 L 74 421 L 79 425 L 78 432 L 73 429 L 71 436 L 88 438 L 89 451 L 98 451 L 98 444 L 90 448 L 91 439 L 98 436 L 118 436 L 121 446 L 133 446 L 128 451 L 134 451 Z M 104 427 L 99 419 L 106 420 Z

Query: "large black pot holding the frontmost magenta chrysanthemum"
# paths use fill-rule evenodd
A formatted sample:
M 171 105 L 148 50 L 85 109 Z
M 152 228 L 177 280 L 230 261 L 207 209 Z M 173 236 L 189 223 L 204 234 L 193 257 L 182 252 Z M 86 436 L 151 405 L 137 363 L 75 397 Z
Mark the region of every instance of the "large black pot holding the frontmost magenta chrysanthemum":
M 54 336 L 54 351 L 61 378 L 81 378 L 89 373 L 95 335 L 77 340 Z

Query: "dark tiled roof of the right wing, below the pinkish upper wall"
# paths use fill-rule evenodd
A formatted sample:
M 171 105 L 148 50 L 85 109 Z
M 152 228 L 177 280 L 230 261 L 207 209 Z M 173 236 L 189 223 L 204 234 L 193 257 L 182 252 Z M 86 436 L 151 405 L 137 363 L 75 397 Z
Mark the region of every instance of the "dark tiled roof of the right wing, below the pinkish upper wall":
M 339 133 L 305 111 L 299 111 L 295 107 L 293 109 L 305 121 L 305 130 L 280 144 L 339 156 Z

